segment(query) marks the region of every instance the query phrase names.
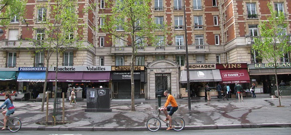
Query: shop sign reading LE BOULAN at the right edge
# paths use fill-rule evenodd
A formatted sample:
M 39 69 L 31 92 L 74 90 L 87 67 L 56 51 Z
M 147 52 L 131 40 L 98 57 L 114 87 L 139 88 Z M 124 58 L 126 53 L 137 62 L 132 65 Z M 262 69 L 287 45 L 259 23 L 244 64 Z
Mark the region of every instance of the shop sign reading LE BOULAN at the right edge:
M 255 64 L 248 64 L 249 69 L 255 68 L 291 68 L 291 63 L 255 63 Z

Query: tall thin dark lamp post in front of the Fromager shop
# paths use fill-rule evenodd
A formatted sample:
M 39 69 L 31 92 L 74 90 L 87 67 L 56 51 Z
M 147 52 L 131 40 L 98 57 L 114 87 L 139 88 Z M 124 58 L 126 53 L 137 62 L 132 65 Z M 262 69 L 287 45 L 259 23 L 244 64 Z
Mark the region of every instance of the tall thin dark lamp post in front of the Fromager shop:
M 184 3 L 184 30 L 185 30 L 185 44 L 186 44 L 186 72 L 187 72 L 187 90 L 188 90 L 188 109 L 191 109 L 191 99 L 190 99 L 190 78 L 189 78 L 189 56 L 188 56 L 188 40 L 187 40 L 187 24 L 186 24 L 186 7 L 185 0 Z

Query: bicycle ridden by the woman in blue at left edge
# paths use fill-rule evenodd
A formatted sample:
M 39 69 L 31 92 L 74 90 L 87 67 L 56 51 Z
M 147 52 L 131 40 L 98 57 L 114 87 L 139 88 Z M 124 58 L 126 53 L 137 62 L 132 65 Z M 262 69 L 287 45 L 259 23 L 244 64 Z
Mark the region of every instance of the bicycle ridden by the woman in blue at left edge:
M 13 113 L 11 113 L 11 114 L 13 114 Z M 2 124 L 4 124 L 3 119 L 1 119 L 0 122 Z M 21 128 L 21 119 L 19 117 L 15 117 L 15 116 L 12 116 L 12 117 L 9 116 L 8 120 L 6 122 L 6 128 L 9 129 L 11 132 L 19 131 Z

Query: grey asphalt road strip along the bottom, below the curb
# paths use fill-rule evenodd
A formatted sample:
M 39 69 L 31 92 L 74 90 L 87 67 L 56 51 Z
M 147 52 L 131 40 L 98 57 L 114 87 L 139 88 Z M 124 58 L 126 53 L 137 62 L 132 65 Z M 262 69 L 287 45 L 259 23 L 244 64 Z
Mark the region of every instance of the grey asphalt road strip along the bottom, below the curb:
M 118 134 L 118 135 L 135 135 L 135 134 L 167 134 L 167 135 L 205 135 L 205 134 L 223 134 L 223 135 L 233 135 L 233 134 L 242 134 L 242 135 L 253 135 L 253 134 L 264 134 L 264 135 L 289 135 L 291 132 L 291 127 L 273 127 L 273 128 L 236 128 L 236 129 L 207 129 L 207 130 L 182 130 L 182 131 L 174 131 L 174 130 L 159 130 L 156 132 L 152 131 L 18 131 L 16 133 L 12 133 L 9 130 L 0 131 L 2 135 L 11 135 L 11 134 L 21 134 L 21 135 L 34 135 L 34 134 L 42 134 L 42 135 L 109 135 L 109 134 Z

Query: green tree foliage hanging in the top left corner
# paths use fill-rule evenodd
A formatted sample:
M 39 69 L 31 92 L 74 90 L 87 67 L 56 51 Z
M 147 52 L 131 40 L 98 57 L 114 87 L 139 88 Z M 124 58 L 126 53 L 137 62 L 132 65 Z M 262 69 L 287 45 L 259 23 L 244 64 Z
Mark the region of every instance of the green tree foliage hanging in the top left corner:
M 8 25 L 14 18 L 23 18 L 27 0 L 0 0 L 0 25 Z

